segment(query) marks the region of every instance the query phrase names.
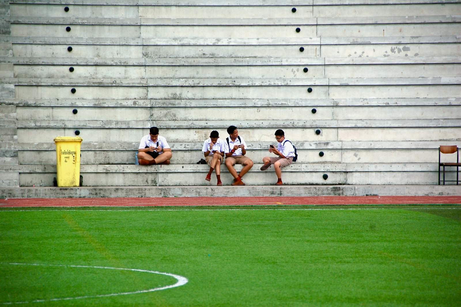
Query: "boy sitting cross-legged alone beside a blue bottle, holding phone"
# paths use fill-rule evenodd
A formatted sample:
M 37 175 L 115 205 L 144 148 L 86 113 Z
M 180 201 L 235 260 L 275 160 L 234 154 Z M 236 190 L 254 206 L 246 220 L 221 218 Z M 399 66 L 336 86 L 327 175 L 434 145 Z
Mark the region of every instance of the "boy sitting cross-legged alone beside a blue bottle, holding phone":
M 159 128 L 151 127 L 149 134 L 141 138 L 138 149 L 138 162 L 142 165 L 170 164 L 172 157 L 166 138 L 159 135 Z

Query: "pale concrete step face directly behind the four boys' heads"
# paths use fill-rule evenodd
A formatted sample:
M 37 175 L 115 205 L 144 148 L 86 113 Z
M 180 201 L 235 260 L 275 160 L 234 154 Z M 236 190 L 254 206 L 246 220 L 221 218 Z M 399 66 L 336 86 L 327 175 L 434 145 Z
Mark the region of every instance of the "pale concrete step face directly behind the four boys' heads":
M 33 139 L 35 142 L 45 143 L 52 142 L 57 136 L 75 136 L 74 131 L 79 129 L 80 137 L 84 142 L 135 142 L 139 141 L 142 136 L 148 133 L 148 128 L 153 126 L 152 123 L 146 124 L 145 128 L 132 129 L 112 129 L 112 128 L 36 128 L 31 131 L 30 128 L 18 129 L 18 142 L 28 142 Z M 159 125 L 160 126 L 160 125 Z M 160 126 L 161 127 L 161 126 Z M 237 126 L 238 127 L 238 126 Z M 226 127 L 216 127 L 224 136 Z M 278 127 L 277 127 L 278 128 Z M 197 142 L 203 140 L 210 134 L 211 128 L 161 128 L 160 135 L 164 135 L 168 142 Z M 315 131 L 319 129 L 319 135 Z M 458 136 L 461 135 L 460 127 L 427 127 L 421 129 L 418 127 L 369 127 L 360 129 L 355 127 L 350 128 L 323 128 L 313 127 L 305 128 L 290 128 L 285 129 L 285 133 L 290 133 L 290 138 L 299 142 L 335 142 L 335 141 L 356 141 L 356 142 L 375 142 L 380 141 L 458 141 Z M 40 132 L 40 133 L 38 133 Z M 274 135 L 274 128 L 239 128 L 241 135 L 247 142 L 256 141 L 271 141 Z M 255 137 L 257 135 L 258 137 Z

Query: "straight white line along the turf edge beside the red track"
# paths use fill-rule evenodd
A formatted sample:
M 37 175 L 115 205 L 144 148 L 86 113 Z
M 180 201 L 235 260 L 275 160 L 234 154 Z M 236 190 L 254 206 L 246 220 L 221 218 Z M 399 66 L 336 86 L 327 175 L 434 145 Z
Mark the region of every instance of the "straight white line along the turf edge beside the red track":
M 56 208 L 56 209 L 55 209 Z M 427 210 L 427 209 L 437 209 L 437 210 L 461 210 L 459 208 L 440 208 L 437 206 L 434 207 L 424 207 L 424 208 L 254 208 L 254 209 L 192 209 L 192 208 L 183 208 L 183 209 L 59 209 L 67 207 L 53 207 L 53 209 L 32 209 L 32 210 L 15 210 L 14 208 L 8 208 L 10 210 L 0 210 L 0 212 L 33 212 L 33 211 L 316 211 L 316 210 Z M 139 207 L 137 207 L 139 208 Z

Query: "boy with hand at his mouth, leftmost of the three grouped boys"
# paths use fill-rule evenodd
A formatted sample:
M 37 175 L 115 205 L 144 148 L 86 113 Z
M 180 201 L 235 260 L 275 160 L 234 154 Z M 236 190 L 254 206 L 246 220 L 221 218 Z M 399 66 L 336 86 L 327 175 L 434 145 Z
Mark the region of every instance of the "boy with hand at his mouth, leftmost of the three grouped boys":
M 222 186 L 221 182 L 221 163 L 223 162 L 224 157 L 224 143 L 219 139 L 219 132 L 213 130 L 210 133 L 210 138 L 203 142 L 203 155 L 205 156 L 205 161 L 210 166 L 210 171 L 208 172 L 206 181 L 211 180 L 211 173 L 213 169 L 216 169 L 216 179 L 218 180 L 217 186 Z

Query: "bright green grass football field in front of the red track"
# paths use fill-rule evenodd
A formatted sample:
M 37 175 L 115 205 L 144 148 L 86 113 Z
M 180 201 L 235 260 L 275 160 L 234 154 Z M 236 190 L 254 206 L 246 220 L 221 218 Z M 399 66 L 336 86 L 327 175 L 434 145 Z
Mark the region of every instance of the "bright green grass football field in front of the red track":
M 4 208 L 0 251 L 3 305 L 461 305 L 456 205 Z

